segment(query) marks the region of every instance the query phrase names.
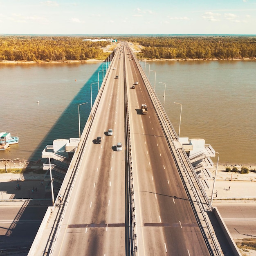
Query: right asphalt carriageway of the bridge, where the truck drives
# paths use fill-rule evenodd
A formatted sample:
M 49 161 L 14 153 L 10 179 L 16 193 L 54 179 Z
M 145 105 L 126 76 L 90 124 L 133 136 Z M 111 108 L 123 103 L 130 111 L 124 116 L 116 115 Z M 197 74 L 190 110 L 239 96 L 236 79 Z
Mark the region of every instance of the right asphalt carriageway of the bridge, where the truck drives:
M 139 255 L 209 255 L 144 82 L 134 60 L 128 60 Z M 148 114 L 141 115 L 145 103 Z

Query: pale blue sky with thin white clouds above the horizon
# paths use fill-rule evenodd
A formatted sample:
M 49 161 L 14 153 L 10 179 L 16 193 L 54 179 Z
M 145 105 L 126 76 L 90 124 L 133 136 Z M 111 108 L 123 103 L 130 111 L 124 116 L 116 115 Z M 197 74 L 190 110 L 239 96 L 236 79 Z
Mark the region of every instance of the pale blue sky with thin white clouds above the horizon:
M 0 34 L 256 34 L 256 0 L 0 0 Z

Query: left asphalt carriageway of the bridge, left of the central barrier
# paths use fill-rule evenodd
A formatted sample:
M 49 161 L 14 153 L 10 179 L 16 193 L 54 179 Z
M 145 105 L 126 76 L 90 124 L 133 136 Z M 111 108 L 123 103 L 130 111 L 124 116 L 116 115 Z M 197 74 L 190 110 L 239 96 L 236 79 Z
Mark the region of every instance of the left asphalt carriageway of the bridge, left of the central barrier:
M 54 255 L 126 254 L 124 62 L 120 60 L 115 57 L 112 63 Z M 107 135 L 109 128 L 112 136 Z M 94 143 L 98 136 L 101 144 Z M 120 152 L 117 142 L 123 144 Z

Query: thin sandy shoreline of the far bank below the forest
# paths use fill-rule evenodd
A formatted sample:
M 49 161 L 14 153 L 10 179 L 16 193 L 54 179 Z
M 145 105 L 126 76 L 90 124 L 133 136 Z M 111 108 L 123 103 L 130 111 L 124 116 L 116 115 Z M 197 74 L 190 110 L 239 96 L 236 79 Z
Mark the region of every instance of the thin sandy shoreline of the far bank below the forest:
M 256 58 L 179 58 L 179 59 L 146 59 L 146 61 L 256 61 Z M 88 62 L 104 62 L 104 60 L 88 59 L 88 60 L 67 60 L 67 61 L 0 61 L 0 64 L 60 64 L 60 63 L 88 63 Z

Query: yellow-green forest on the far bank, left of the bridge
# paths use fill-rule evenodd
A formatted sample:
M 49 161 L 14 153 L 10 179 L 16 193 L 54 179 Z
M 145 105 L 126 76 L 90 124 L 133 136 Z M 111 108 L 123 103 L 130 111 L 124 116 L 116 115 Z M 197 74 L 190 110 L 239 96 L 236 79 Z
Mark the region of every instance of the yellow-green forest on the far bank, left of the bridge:
M 71 61 L 104 58 L 108 41 L 73 36 L 0 36 L 0 61 Z M 108 55 L 108 54 L 107 54 Z

